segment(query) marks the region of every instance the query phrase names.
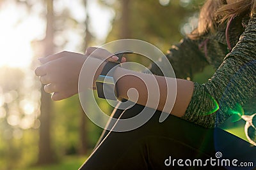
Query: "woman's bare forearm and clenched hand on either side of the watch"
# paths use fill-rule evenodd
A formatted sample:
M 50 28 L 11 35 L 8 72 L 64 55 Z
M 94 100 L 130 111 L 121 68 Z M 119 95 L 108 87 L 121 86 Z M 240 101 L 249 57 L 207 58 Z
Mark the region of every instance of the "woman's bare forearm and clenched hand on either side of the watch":
M 84 60 L 86 60 L 84 63 L 86 74 L 83 75 L 86 77 L 83 77 L 83 79 L 85 81 L 93 80 L 93 83 L 86 84 L 88 88 L 92 85 L 95 87 L 95 80 L 105 64 L 99 57 L 106 56 L 109 56 L 109 53 L 106 53 L 106 50 L 103 49 L 99 49 L 97 53 L 89 58 L 79 53 L 61 52 L 50 56 L 54 60 L 43 59 L 43 65 L 36 68 L 35 72 L 36 75 L 40 76 L 40 81 L 45 84 L 45 92 L 53 93 L 52 99 L 58 101 L 78 92 L 78 77 Z M 193 94 L 193 82 L 188 80 L 176 80 L 175 78 L 138 73 L 122 67 L 117 67 L 114 76 L 116 80 L 120 77 L 117 81 L 120 97 L 150 108 L 173 113 L 177 117 L 184 115 Z M 129 90 L 132 88 L 138 91 L 138 101 L 136 93 L 131 93 L 132 90 Z M 176 90 L 177 99 L 174 101 Z M 128 91 L 129 93 L 127 93 Z M 129 97 L 127 94 L 130 94 Z M 170 108 L 173 106 L 171 103 L 175 103 L 173 110 Z

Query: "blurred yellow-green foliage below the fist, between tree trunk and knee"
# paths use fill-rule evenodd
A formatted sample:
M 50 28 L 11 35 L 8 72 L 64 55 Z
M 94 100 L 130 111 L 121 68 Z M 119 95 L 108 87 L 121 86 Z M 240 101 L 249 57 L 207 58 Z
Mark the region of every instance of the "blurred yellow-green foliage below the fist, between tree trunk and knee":
M 101 104 L 105 105 L 106 103 Z M 81 118 L 86 119 L 85 131 L 88 152 L 90 152 L 97 143 L 102 129 L 93 124 L 83 113 L 78 95 L 56 102 L 54 113 L 56 114 L 52 120 L 52 139 L 54 149 L 58 155 L 61 157 L 67 154 L 79 153 L 79 122 Z

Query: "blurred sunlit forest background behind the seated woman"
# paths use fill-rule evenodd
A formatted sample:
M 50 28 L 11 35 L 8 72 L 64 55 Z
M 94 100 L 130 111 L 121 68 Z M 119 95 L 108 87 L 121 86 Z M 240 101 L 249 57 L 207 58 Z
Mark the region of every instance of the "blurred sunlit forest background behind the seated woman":
M 38 57 L 84 53 L 120 38 L 164 53 L 196 27 L 204 0 L 0 0 L 0 169 L 77 169 L 102 129 L 78 96 L 52 102 L 34 69 Z M 136 59 L 134 59 L 136 60 Z M 138 59 L 140 60 L 140 59 Z M 204 83 L 212 69 L 198 74 Z M 99 104 L 108 113 L 112 108 Z

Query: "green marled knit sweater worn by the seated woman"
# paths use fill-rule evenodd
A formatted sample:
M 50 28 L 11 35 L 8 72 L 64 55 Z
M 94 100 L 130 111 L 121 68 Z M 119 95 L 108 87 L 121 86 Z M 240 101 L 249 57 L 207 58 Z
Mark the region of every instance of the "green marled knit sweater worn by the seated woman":
M 256 113 L 256 15 L 236 17 L 229 30 L 227 50 L 225 25 L 196 40 L 184 38 L 166 55 L 177 78 L 190 77 L 212 65 L 216 72 L 207 81 L 195 82 L 193 97 L 182 117 L 204 127 L 216 127 L 243 108 Z M 161 66 L 161 60 L 157 62 Z M 161 75 L 157 64 L 150 71 Z M 163 63 L 162 63 L 163 64 Z

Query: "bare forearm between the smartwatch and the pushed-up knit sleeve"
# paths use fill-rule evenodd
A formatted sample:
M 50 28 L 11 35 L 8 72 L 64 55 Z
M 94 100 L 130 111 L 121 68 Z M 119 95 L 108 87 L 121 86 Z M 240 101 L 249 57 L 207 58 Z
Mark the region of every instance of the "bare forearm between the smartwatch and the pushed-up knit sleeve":
M 114 76 L 119 78 L 116 83 L 118 96 L 177 117 L 184 115 L 193 94 L 193 82 L 188 80 L 138 73 L 122 67 L 116 68 Z M 136 89 L 138 94 L 129 89 Z M 173 103 L 170 112 L 168 105 Z

